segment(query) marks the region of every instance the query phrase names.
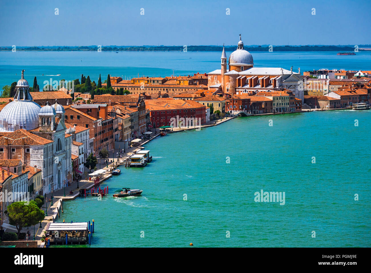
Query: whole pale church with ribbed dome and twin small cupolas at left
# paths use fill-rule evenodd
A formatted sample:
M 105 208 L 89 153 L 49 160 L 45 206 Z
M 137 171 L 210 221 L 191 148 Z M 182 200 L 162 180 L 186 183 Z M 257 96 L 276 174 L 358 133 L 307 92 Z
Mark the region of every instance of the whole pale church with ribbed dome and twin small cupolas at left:
M 20 159 L 41 169 L 37 194 L 49 194 L 72 181 L 72 135 L 65 133 L 63 106 L 58 101 L 43 107 L 35 103 L 23 72 L 14 100 L 0 112 L 0 159 Z

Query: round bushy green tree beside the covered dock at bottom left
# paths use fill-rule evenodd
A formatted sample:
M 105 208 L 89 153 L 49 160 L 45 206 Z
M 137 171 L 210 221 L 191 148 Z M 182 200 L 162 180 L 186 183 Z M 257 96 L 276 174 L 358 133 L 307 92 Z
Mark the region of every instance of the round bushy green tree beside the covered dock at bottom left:
M 36 225 L 45 215 L 33 200 L 28 205 L 26 202 L 14 202 L 7 207 L 5 213 L 9 217 L 9 223 L 17 228 L 17 236 L 24 226 Z

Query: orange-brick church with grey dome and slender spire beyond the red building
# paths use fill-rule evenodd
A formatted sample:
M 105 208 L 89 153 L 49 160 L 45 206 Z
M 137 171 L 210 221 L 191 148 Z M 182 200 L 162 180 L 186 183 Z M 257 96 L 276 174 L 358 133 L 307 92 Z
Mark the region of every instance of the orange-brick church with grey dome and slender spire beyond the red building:
M 244 49 L 241 40 L 233 51 L 227 64 L 227 55 L 223 46 L 221 69 L 208 73 L 208 89 L 220 90 L 230 95 L 251 95 L 259 92 L 277 92 L 290 90 L 295 98 L 304 100 L 302 78 L 299 73 L 283 68 L 254 67 L 252 55 Z M 227 68 L 228 66 L 228 68 Z

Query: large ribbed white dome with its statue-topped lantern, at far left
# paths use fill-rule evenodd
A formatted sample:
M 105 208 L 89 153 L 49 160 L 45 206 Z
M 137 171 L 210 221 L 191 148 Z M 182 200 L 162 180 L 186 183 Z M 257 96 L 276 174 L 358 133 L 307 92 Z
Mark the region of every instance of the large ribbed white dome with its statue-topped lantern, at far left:
M 23 78 L 17 82 L 14 101 L 5 105 L 0 112 L 0 131 L 9 132 L 18 129 L 32 130 L 39 126 L 40 105 L 32 100 L 29 85 Z

